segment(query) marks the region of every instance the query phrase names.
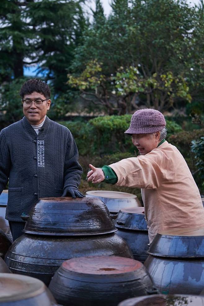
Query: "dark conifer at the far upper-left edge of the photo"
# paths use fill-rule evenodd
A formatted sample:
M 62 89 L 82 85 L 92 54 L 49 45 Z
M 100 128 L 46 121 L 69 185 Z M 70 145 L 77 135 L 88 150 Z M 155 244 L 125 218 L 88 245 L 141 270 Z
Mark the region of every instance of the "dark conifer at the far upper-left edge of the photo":
M 26 23 L 28 2 L 2 0 L 0 6 L 0 79 L 1 82 L 23 76 L 24 58 L 29 56 L 27 39 L 33 35 Z

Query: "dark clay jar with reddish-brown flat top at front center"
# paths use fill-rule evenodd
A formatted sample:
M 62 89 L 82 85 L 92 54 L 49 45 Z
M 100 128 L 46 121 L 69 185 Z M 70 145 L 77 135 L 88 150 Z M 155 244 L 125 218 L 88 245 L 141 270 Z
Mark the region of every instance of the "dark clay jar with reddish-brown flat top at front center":
M 157 293 L 142 263 L 117 256 L 67 260 L 49 289 L 65 306 L 116 306 L 130 297 Z

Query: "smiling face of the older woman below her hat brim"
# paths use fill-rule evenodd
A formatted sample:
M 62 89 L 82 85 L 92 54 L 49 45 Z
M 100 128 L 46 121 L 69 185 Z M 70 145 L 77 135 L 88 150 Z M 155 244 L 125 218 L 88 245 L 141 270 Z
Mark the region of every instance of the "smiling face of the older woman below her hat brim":
M 151 134 L 132 134 L 132 143 L 139 150 L 140 155 L 145 155 L 156 149 L 160 143 L 160 132 Z

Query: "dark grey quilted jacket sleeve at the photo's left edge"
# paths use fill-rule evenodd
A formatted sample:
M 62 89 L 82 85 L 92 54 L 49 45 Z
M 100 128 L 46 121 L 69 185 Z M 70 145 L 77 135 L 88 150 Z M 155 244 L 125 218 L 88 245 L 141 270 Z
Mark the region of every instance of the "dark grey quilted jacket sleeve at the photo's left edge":
M 0 194 L 5 189 L 11 169 L 10 150 L 3 130 L 0 133 Z

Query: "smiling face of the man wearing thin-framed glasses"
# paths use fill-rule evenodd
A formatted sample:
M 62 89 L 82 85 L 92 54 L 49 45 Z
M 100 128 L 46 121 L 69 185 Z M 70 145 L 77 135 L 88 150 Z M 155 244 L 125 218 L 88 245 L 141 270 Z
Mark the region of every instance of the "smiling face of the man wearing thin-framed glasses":
M 38 99 L 45 100 L 46 97 L 36 91 L 33 91 L 30 95 L 24 95 L 23 97 L 23 100 L 34 101 Z M 23 113 L 31 125 L 38 125 L 44 120 L 48 109 L 50 109 L 50 104 L 50 99 L 43 101 L 41 106 L 36 106 L 34 102 L 29 106 L 23 103 Z

